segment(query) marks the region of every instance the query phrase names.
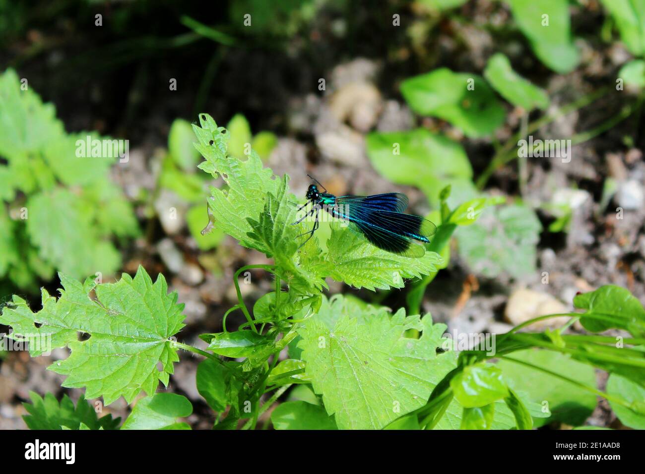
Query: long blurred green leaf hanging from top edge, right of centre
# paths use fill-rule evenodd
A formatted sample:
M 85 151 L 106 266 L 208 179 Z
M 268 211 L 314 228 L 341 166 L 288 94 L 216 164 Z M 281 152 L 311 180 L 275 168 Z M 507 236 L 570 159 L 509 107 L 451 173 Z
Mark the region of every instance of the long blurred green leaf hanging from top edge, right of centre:
M 542 63 L 560 74 L 571 72 L 578 65 L 580 54 L 571 40 L 567 0 L 505 1 Z

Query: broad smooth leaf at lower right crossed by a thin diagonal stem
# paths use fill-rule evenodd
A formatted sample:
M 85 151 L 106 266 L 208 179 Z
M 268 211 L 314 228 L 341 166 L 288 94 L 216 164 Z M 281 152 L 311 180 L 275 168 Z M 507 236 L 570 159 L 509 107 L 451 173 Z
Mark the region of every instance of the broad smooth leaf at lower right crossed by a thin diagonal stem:
M 557 352 L 522 350 L 513 352 L 508 357 L 529 362 L 590 387 L 596 385 L 593 367 Z M 500 360 L 497 366 L 501 368 L 504 380 L 514 391 L 525 391 L 533 402 L 551 411 L 550 418 L 535 420 L 535 426 L 542 426 L 553 420 L 579 425 L 591 415 L 596 406 L 596 395 L 558 377 L 509 359 Z

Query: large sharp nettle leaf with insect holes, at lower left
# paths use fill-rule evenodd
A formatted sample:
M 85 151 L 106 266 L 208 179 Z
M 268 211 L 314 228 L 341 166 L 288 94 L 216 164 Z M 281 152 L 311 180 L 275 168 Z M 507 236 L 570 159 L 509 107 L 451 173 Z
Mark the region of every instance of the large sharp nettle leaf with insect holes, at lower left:
M 50 341 L 50 349 L 68 346 L 70 357 L 49 369 L 68 375 L 64 387 L 86 387 L 86 397 L 103 396 L 106 405 L 122 395 L 128 403 L 141 391 L 152 395 L 159 380 L 168 384 L 173 362 L 179 360 L 168 338 L 184 326 L 184 305 L 177 304 L 177 293 L 168 294 L 163 275 L 153 283 L 140 266 L 134 279 L 123 273 L 118 282 L 97 286 L 90 279 L 81 284 L 62 273 L 59 277 L 61 297 L 56 300 L 43 289 L 43 309 L 36 313 L 14 295 L 0 317 L 13 328 L 9 337 L 32 335 Z M 90 298 L 92 290 L 97 301 Z M 90 339 L 79 341 L 79 333 Z

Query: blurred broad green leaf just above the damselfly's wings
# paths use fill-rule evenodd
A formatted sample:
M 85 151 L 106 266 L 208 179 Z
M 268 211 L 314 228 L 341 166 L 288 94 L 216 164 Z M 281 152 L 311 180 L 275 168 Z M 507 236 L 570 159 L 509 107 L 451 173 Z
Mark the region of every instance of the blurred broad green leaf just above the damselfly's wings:
M 432 206 L 439 204 L 439 192 L 452 187 L 455 205 L 475 197 L 473 169 L 461 144 L 417 128 L 409 132 L 373 132 L 367 136 L 367 153 L 374 168 L 396 184 L 421 189 Z

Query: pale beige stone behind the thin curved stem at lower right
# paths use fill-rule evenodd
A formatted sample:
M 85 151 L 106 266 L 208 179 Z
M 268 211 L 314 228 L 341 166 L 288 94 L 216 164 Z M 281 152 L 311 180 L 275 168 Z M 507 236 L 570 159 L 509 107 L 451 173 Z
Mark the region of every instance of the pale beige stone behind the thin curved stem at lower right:
M 515 290 L 508 298 L 504 317 L 506 321 L 517 326 L 530 319 L 548 314 L 568 313 L 562 302 L 548 293 L 528 289 Z M 557 328 L 569 320 L 568 317 L 555 317 L 544 321 L 534 322 L 527 326 L 531 330 L 544 330 L 544 328 Z

